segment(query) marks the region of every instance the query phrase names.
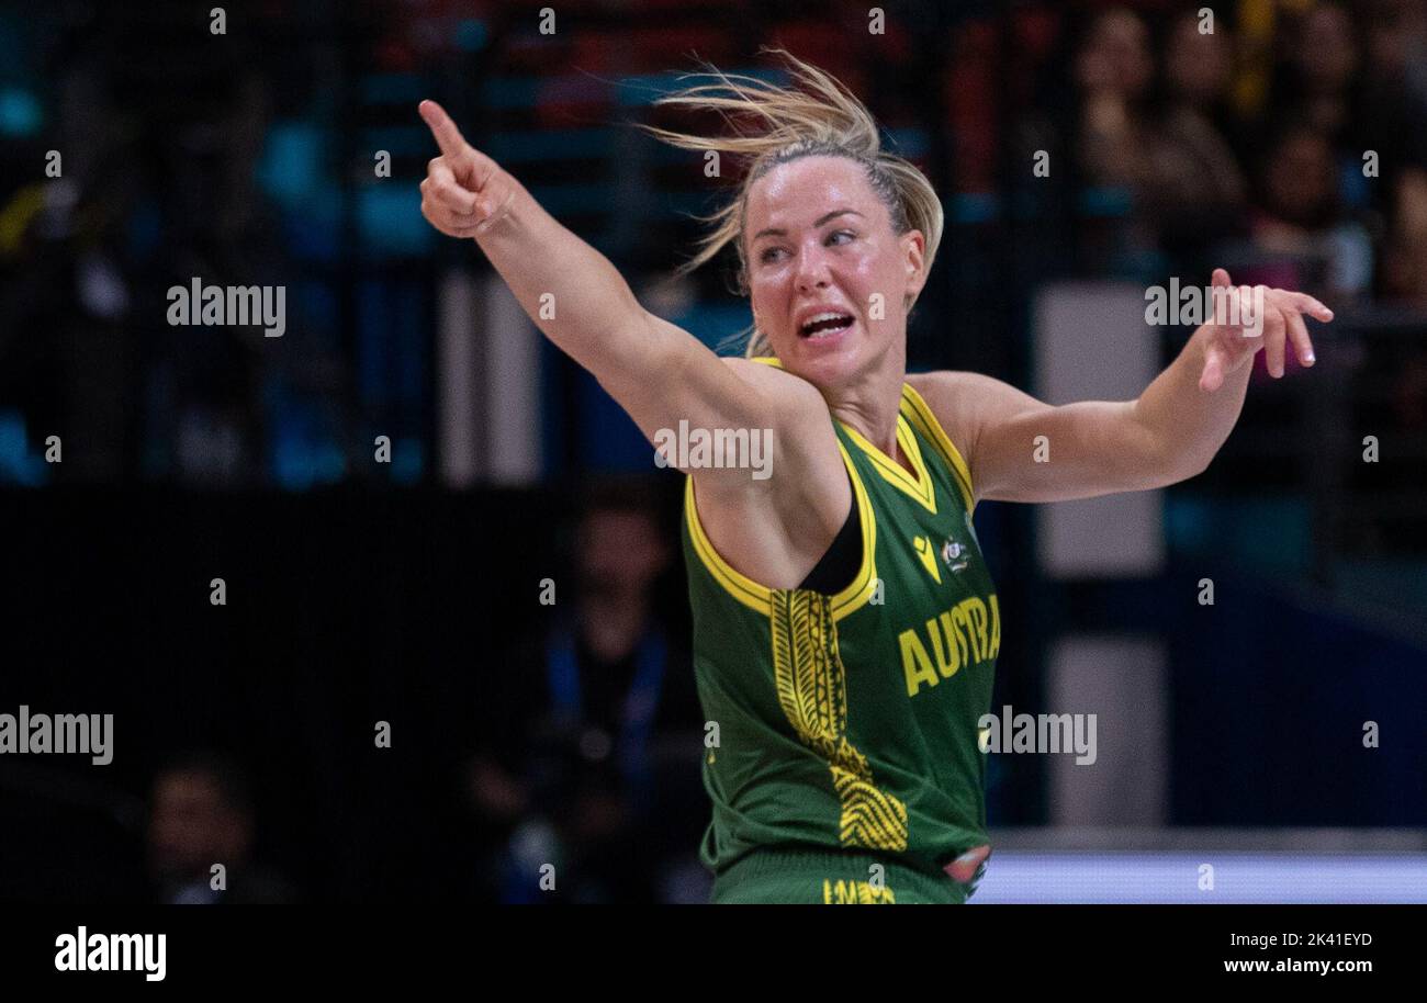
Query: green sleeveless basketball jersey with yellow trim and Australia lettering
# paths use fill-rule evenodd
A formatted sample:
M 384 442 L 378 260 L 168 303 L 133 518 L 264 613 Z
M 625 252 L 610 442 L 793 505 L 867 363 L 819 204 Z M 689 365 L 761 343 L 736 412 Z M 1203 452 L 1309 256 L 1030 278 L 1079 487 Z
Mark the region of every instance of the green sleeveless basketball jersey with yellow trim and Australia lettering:
M 863 544 L 836 595 L 739 574 L 699 524 L 692 478 L 685 488 L 694 666 L 718 725 L 701 847 L 715 873 L 791 845 L 939 870 L 987 842 L 977 721 L 990 711 L 1000 609 L 966 462 L 909 385 L 896 438 L 915 477 L 833 427 Z

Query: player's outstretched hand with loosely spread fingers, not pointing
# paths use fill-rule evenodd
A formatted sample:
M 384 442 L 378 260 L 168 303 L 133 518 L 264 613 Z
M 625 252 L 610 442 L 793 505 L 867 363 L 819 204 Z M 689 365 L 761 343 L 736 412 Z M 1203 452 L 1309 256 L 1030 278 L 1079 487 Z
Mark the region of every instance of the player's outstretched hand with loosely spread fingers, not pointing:
M 1313 365 L 1313 342 L 1303 314 L 1320 321 L 1331 321 L 1333 311 L 1306 292 L 1271 290 L 1266 285 L 1230 285 L 1229 273 L 1214 268 L 1214 288 L 1226 288 L 1223 304 L 1229 312 L 1212 317 L 1200 330 L 1207 332 L 1204 371 L 1199 388 L 1213 392 L 1223 387 L 1229 374 L 1249 364 L 1263 348 L 1269 375 L 1283 375 L 1287 344 L 1303 365 Z M 1216 297 L 1217 300 L 1217 297 Z M 1236 321 L 1236 322 L 1230 322 Z

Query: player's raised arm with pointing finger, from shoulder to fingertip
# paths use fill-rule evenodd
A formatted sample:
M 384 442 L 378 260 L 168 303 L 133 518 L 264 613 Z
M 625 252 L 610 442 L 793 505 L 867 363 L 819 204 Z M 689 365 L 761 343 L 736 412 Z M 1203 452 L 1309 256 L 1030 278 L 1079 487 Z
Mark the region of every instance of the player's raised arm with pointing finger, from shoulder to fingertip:
M 645 438 L 655 442 L 681 421 L 701 429 L 771 429 L 772 477 L 723 467 L 686 471 L 714 542 L 748 555 L 749 574 L 801 564 L 805 551 L 821 554 L 850 504 L 821 394 L 779 370 L 721 360 L 648 312 L 608 258 L 472 148 L 435 101 L 422 101 L 421 116 L 441 147 L 421 183 L 422 215 L 444 234 L 475 238 L 535 325 L 595 375 Z

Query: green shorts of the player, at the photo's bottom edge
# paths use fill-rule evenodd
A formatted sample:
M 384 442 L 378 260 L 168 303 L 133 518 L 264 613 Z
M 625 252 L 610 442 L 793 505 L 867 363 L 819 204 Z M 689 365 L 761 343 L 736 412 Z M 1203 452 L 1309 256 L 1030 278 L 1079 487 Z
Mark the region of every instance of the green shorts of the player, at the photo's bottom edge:
M 980 879 L 980 873 L 976 875 Z M 962 905 L 977 880 L 836 850 L 753 850 L 714 879 L 714 905 Z

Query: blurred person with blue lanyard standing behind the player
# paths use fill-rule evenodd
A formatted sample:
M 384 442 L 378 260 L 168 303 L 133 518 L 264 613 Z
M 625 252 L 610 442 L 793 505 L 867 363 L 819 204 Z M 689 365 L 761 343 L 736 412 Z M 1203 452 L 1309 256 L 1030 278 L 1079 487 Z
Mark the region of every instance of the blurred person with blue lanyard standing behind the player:
M 571 612 L 492 666 L 502 692 L 485 708 L 469 792 L 497 836 L 507 902 L 705 897 L 702 716 L 688 656 L 655 618 L 671 539 L 639 487 L 596 487 L 575 534 Z

